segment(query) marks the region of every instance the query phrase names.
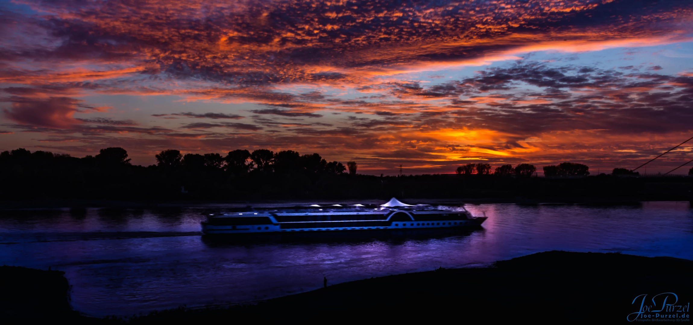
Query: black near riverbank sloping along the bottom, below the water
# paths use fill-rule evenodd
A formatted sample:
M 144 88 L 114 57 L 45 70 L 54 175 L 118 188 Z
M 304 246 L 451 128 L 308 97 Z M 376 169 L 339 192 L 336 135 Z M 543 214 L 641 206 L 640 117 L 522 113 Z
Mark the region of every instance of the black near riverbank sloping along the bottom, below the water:
M 1 269 L 4 281 L 9 270 Z M 24 274 L 15 277 L 18 282 L 28 283 L 30 278 L 37 277 L 36 272 L 44 272 L 39 277 L 49 275 L 46 271 L 22 270 Z M 678 301 L 671 296 L 667 304 L 684 307 L 657 314 L 690 315 L 685 305 L 693 302 L 691 274 L 693 261 L 685 259 L 552 251 L 498 261 L 490 268 L 441 268 L 336 284 L 247 306 L 177 308 L 130 319 L 94 319 L 71 314 L 64 309 L 67 287 L 52 286 L 53 290 L 62 290 L 62 297 L 56 295 L 57 291 L 51 293 L 59 303 L 7 299 L 3 300 L 2 316 L 11 315 L 18 322 L 26 322 L 55 313 L 74 324 L 518 322 L 522 319 L 539 323 L 611 324 L 626 322 L 629 314 L 638 312 L 640 300 L 632 302 L 644 294 L 647 294 L 645 305 L 653 305 L 651 299 L 655 295 L 675 293 Z M 53 281 L 65 284 L 64 278 Z M 656 303 L 662 304 L 663 298 L 660 295 Z M 13 304 L 12 308 L 7 308 L 8 304 Z M 20 308 L 19 304 L 26 305 Z M 19 317 L 17 310 L 22 310 L 24 317 Z M 656 313 L 649 314 L 655 317 Z

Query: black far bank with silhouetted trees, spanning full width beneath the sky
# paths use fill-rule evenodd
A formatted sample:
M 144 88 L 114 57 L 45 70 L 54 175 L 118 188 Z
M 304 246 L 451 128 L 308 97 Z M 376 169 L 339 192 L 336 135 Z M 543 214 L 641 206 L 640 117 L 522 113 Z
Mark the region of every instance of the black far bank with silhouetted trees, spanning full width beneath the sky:
M 328 162 L 296 151 L 234 150 L 226 155 L 161 151 L 156 165 L 132 165 L 123 148 L 84 158 L 15 149 L 0 153 L 0 196 L 130 201 L 249 201 L 271 199 L 476 198 L 507 201 L 583 198 L 689 200 L 691 178 L 638 178 L 628 169 L 586 176 L 588 167 L 561 163 L 536 176 L 529 164 L 466 164 L 457 174 L 373 176 L 358 164 Z M 550 174 L 553 173 L 553 174 Z M 629 174 L 630 173 L 630 174 Z

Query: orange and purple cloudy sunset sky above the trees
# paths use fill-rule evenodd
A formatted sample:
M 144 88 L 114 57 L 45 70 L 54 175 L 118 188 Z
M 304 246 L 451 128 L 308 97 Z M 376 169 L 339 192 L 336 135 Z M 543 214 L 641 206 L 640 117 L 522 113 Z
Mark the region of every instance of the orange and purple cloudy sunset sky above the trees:
M 2 1 L 0 50 L 0 151 L 595 174 L 693 136 L 690 0 Z

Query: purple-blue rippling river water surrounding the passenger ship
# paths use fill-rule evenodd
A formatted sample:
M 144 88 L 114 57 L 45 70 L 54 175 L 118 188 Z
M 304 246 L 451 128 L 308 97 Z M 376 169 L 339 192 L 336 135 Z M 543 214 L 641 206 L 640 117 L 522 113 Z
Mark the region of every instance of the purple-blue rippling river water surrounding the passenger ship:
M 63 270 L 73 308 L 133 315 L 237 304 L 345 281 L 485 266 L 547 250 L 693 259 L 688 202 L 465 205 L 477 230 L 364 231 L 209 239 L 216 208 L 0 212 L 0 265 Z

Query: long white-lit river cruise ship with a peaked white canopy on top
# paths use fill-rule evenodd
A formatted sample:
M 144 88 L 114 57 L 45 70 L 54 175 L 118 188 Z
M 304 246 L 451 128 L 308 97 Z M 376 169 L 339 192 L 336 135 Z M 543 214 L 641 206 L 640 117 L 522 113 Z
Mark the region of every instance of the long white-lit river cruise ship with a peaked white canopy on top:
M 480 226 L 485 220 L 486 216 L 474 217 L 464 208 L 461 211 L 441 210 L 430 205 L 408 205 L 392 198 L 375 208 L 335 204 L 294 210 L 210 214 L 202 223 L 202 231 L 204 234 L 240 234 L 459 228 Z

